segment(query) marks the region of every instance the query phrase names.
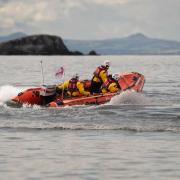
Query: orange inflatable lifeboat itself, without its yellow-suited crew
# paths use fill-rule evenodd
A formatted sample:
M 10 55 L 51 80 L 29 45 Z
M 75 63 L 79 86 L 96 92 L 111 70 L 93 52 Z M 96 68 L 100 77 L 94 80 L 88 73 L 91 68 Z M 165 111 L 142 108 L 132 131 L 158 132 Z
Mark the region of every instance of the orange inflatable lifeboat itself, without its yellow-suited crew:
M 74 105 L 104 104 L 109 102 L 112 97 L 119 95 L 122 91 L 133 90 L 141 92 L 145 83 L 145 77 L 137 72 L 122 73 L 119 75 L 120 91 L 116 93 L 96 93 L 89 96 L 67 97 L 64 92 L 57 92 L 56 86 L 43 85 L 37 88 L 30 88 L 20 92 L 16 97 L 8 102 L 8 105 L 22 106 L 23 104 L 40 105 L 44 107 L 65 107 Z M 82 81 L 85 88 L 91 87 L 90 80 Z

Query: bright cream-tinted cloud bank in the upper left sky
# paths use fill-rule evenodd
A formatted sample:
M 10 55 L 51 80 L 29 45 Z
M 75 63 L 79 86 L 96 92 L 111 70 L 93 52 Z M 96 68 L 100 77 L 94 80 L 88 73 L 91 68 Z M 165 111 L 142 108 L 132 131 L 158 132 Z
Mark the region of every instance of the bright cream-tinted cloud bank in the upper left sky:
M 74 8 L 86 9 L 87 4 L 115 5 L 130 0 L 0 0 L 1 26 L 12 27 L 16 22 L 51 22 L 69 15 Z M 2 20 L 3 19 L 3 20 Z

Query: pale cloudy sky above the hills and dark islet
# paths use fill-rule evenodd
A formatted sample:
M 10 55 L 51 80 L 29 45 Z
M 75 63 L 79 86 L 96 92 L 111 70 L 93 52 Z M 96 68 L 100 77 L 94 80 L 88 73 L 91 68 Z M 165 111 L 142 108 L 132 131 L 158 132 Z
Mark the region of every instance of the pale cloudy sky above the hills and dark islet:
M 0 36 L 19 31 L 63 39 L 140 32 L 180 41 L 180 0 L 0 0 Z

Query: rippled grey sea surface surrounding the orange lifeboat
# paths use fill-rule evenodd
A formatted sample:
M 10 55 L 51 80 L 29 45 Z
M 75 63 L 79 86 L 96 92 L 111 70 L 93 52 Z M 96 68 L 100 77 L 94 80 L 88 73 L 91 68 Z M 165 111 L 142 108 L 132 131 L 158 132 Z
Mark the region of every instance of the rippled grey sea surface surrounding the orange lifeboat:
M 124 92 L 100 106 L 7 107 L 27 87 L 54 84 L 55 71 L 91 77 L 104 60 L 110 72 L 146 77 L 141 94 Z M 0 57 L 1 179 L 179 179 L 180 57 Z

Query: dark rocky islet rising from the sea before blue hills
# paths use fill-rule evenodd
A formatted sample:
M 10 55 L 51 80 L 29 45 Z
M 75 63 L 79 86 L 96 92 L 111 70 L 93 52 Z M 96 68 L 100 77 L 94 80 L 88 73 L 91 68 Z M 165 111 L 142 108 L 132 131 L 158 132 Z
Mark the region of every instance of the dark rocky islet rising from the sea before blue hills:
M 58 36 L 33 35 L 0 43 L 0 55 L 76 55 Z M 78 52 L 78 54 L 82 54 Z

